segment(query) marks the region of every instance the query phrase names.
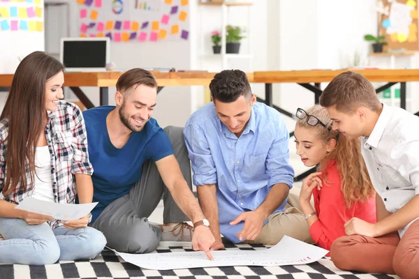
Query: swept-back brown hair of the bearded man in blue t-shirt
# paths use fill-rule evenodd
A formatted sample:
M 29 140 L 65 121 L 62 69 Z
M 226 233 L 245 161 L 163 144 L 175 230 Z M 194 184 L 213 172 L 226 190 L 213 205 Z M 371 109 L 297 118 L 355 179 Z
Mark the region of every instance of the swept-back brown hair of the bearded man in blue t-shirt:
M 157 88 L 157 81 L 152 73 L 141 68 L 133 68 L 119 77 L 117 81 L 117 91 L 126 93 L 127 89 L 140 84 Z

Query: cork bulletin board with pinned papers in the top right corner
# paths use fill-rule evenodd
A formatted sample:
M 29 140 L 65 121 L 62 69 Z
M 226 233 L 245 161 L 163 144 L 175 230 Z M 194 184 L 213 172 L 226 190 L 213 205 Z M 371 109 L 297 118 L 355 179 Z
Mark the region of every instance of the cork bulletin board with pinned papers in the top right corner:
M 378 10 L 379 35 L 388 49 L 419 50 L 418 0 L 382 0 Z

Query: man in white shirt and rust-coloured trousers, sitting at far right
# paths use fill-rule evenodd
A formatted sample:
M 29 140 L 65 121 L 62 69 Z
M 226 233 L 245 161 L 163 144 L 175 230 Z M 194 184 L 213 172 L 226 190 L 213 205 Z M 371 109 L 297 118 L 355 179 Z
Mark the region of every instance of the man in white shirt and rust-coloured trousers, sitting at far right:
M 362 137 L 362 156 L 376 190 L 377 223 L 352 218 L 332 244 L 339 269 L 419 278 L 419 118 L 380 103 L 358 73 L 335 77 L 323 91 L 333 129 Z

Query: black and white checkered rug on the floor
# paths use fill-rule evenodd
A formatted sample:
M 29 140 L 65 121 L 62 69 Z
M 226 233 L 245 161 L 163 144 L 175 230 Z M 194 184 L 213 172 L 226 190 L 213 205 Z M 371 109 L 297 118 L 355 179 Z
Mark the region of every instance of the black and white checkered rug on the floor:
M 175 243 L 162 243 L 156 252 L 192 251 L 191 246 L 173 246 Z M 262 245 L 224 243 L 227 250 L 260 250 Z M 46 266 L 25 266 L 19 264 L 0 264 L 1 279 L 59 279 L 59 278 L 167 278 L 167 279 L 270 279 L 270 278 L 398 278 L 383 274 L 363 274 L 340 271 L 330 261 L 323 258 L 312 264 L 297 266 L 226 266 L 199 269 L 177 269 L 154 271 L 140 269 L 138 266 L 124 262 L 121 257 L 110 250 L 91 261 L 67 262 Z

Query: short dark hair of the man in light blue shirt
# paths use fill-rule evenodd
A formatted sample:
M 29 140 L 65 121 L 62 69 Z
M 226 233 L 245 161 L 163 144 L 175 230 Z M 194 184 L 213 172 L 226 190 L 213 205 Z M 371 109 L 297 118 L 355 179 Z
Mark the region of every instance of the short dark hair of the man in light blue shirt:
M 214 75 L 210 83 L 212 100 L 232 103 L 240 96 L 251 97 L 247 75 L 242 70 L 223 70 Z

